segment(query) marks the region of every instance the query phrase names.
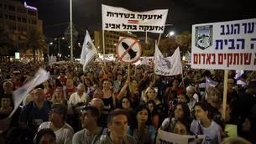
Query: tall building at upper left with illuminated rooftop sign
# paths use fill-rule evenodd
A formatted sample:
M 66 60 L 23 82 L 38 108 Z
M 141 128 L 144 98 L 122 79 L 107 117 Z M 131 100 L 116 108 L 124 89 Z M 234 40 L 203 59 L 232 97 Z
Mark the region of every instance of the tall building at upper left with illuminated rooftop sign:
M 31 52 L 24 52 L 19 48 L 23 35 L 30 29 L 37 29 L 39 33 L 43 33 L 43 21 L 38 17 L 38 9 L 29 6 L 29 3 L 20 3 L 18 0 L 0 1 L 0 27 L 11 34 L 11 38 L 21 57 L 31 57 L 33 55 Z M 5 51 L 8 53 L 8 50 Z M 37 55 L 41 56 L 38 52 Z

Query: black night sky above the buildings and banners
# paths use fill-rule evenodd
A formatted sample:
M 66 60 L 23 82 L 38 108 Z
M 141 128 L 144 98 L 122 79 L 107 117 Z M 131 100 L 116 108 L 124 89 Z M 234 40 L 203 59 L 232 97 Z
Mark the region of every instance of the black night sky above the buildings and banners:
M 27 3 L 39 9 L 47 37 L 65 33 L 70 22 L 70 0 L 27 0 Z M 256 18 L 253 0 L 73 0 L 73 23 L 78 31 L 88 29 L 93 33 L 100 26 L 102 3 L 138 12 L 169 8 L 166 24 L 174 26 L 166 27 L 165 33 L 191 31 L 191 25 L 196 23 Z

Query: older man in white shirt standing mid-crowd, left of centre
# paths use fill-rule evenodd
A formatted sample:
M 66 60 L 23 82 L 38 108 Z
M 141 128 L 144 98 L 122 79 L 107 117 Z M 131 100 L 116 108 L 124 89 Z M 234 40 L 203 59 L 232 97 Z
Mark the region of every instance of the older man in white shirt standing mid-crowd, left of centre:
M 76 106 L 79 103 L 89 102 L 89 96 L 85 92 L 85 85 L 80 84 L 77 86 L 77 92 L 72 94 L 69 103 Z

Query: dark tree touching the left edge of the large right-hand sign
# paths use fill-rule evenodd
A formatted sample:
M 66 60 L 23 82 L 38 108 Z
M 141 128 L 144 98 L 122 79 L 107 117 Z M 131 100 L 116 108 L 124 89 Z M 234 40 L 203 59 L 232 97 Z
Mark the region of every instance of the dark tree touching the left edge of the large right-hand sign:
M 185 31 L 178 35 L 175 39 L 176 43 L 179 44 L 180 51 L 186 53 L 187 51 L 191 52 L 191 33 Z

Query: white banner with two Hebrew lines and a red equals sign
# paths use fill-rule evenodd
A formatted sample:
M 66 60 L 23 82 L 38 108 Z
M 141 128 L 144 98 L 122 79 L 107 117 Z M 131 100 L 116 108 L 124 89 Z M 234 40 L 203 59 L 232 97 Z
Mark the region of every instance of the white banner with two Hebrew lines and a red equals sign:
M 164 33 L 168 9 L 132 12 L 102 4 L 102 29 L 111 31 Z

